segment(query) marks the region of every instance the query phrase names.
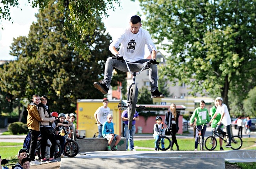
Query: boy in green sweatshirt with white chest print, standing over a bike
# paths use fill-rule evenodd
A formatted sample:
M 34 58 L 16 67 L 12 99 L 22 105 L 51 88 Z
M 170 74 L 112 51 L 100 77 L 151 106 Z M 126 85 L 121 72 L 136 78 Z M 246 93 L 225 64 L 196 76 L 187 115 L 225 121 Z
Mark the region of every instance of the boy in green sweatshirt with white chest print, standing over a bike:
M 197 118 L 196 120 L 196 128 L 198 130 L 201 130 L 201 135 L 202 135 L 202 139 L 204 140 L 204 134 L 206 132 L 206 125 L 204 125 L 204 127 L 202 128 L 203 124 L 206 124 L 207 122 L 210 121 L 210 117 L 209 117 L 209 113 L 208 113 L 208 109 L 205 108 L 205 102 L 202 100 L 200 102 L 200 107 L 196 108 L 192 114 L 192 116 L 190 117 L 190 125 L 193 125 L 194 119 L 195 117 Z M 196 130 L 196 138 L 195 138 L 195 151 L 197 151 L 197 146 L 198 146 L 198 134 L 199 131 Z

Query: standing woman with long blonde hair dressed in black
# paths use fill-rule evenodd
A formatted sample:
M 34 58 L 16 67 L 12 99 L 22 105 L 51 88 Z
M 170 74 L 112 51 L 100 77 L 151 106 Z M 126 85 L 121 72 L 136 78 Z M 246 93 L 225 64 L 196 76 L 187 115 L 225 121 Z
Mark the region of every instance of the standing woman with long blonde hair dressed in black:
M 178 147 L 177 139 L 176 139 L 176 133 L 179 130 L 178 117 L 179 117 L 179 114 L 176 112 L 176 105 L 172 103 L 170 106 L 170 109 L 165 114 L 165 124 L 171 130 L 171 136 L 172 136 L 171 150 L 173 150 L 172 147 L 175 143 L 177 147 L 176 149 L 177 151 L 180 150 Z

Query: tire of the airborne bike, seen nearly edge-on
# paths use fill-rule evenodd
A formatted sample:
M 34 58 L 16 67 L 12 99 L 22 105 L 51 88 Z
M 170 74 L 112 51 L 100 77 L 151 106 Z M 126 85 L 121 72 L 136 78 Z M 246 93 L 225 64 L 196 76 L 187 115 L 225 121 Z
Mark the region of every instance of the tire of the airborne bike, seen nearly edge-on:
M 128 129 L 131 130 L 132 129 L 132 120 L 133 120 L 133 116 L 136 110 L 136 104 L 137 104 L 137 100 L 138 100 L 138 88 L 135 84 L 133 84 L 130 88 L 130 94 L 129 94 L 129 102 L 128 103 Z

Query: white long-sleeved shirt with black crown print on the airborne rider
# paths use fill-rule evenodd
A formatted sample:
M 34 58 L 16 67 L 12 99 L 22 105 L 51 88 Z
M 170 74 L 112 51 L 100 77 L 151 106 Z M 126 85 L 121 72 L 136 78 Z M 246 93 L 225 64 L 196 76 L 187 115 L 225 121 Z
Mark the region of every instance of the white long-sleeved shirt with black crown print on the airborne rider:
M 150 53 L 153 50 L 156 51 L 156 47 L 151 39 L 149 32 L 143 28 L 140 28 L 139 32 L 136 34 L 131 32 L 130 27 L 125 29 L 117 39 L 113 40 L 109 48 L 117 48 L 120 44 L 121 46 L 118 52 L 129 62 L 135 62 L 140 59 L 144 59 L 145 45 L 148 45 Z

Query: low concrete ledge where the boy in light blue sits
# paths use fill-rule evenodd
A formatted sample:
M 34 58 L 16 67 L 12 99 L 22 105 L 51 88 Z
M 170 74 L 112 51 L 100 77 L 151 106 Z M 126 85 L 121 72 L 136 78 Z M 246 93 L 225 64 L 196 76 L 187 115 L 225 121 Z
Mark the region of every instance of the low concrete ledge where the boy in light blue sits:
M 106 151 L 108 140 L 105 138 L 84 138 L 77 139 L 79 151 Z M 112 142 L 111 147 L 114 146 L 115 141 Z M 120 151 L 126 151 L 126 138 L 122 137 L 117 145 Z

